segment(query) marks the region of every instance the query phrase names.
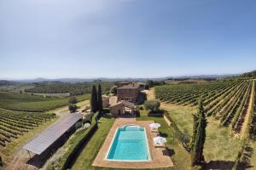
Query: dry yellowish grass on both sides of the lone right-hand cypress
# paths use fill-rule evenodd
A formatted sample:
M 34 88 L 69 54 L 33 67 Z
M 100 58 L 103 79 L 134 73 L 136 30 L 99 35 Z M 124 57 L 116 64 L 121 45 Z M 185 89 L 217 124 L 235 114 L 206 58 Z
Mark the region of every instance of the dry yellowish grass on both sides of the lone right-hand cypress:
M 172 116 L 177 127 L 182 131 L 187 129 L 192 135 L 193 116 L 196 108 L 183 105 L 164 105 L 166 111 Z M 207 140 L 204 148 L 204 156 L 208 167 L 230 168 L 235 161 L 242 141 L 235 137 L 229 127 L 219 127 L 218 122 L 212 117 L 207 117 Z

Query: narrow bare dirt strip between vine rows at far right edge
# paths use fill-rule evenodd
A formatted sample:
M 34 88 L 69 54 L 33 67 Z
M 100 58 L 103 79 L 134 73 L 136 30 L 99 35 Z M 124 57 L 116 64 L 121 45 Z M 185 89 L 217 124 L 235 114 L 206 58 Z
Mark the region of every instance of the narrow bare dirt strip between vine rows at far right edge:
M 240 132 L 241 138 L 246 133 L 248 122 L 249 122 L 249 118 L 250 118 L 250 113 L 251 113 L 251 111 L 253 109 L 253 97 L 255 95 L 255 93 L 254 93 L 254 83 L 255 83 L 255 81 L 253 81 L 253 87 L 252 87 L 252 92 L 251 92 L 251 96 L 250 96 L 250 101 L 249 101 L 247 113 L 246 113 L 246 116 L 244 118 L 244 122 L 242 123 L 242 127 L 241 127 L 241 132 Z

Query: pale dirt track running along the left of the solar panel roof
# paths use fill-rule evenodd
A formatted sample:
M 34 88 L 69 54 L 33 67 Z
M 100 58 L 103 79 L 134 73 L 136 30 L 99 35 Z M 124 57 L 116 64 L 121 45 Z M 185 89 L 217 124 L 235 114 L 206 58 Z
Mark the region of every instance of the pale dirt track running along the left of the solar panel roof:
M 89 105 L 90 101 L 89 100 L 84 100 L 79 102 L 77 105 L 80 106 L 79 111 L 82 111 L 86 105 Z M 68 110 L 68 106 L 62 106 L 60 108 L 56 108 L 55 110 L 52 111 L 48 111 L 50 113 L 55 113 L 56 116 L 58 116 L 58 118 L 55 120 L 55 122 L 60 122 L 62 119 L 64 119 L 65 117 L 67 117 L 70 112 Z M 52 127 L 55 122 L 52 122 L 49 127 Z M 42 133 L 44 130 L 48 129 L 49 127 L 44 128 L 40 133 Z M 39 134 L 39 133 L 38 133 Z M 35 136 L 37 136 L 38 134 L 36 134 Z M 20 150 L 18 150 L 15 153 L 15 156 L 13 158 L 13 160 L 11 162 L 7 163 L 7 167 L 5 167 L 5 170 L 33 170 L 33 169 L 38 169 L 38 167 L 34 167 L 31 165 L 26 164 L 26 161 L 28 161 L 29 155 L 27 153 L 26 150 L 22 150 L 22 148 L 20 148 Z

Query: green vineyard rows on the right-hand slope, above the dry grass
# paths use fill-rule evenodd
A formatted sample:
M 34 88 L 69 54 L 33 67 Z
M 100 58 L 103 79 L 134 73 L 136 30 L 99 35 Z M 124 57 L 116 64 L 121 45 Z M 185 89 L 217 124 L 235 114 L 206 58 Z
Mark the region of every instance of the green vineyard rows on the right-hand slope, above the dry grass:
M 240 133 L 253 95 L 253 81 L 213 82 L 202 85 L 172 85 L 155 88 L 156 98 L 177 105 L 197 105 L 204 101 L 207 116 Z

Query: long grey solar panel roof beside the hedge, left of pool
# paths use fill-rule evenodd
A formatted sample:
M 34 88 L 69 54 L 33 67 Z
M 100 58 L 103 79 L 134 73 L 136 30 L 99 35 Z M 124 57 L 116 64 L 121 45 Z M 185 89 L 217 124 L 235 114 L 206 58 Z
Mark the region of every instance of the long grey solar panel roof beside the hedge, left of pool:
M 67 130 L 73 127 L 76 122 L 79 122 L 80 119 L 82 119 L 82 115 L 77 113 L 70 114 L 61 122 L 55 123 L 53 127 L 41 133 L 37 138 L 32 139 L 23 146 L 23 149 L 37 155 L 42 154 L 44 150 L 47 150 L 51 144 L 54 144 L 62 134 L 66 133 Z

